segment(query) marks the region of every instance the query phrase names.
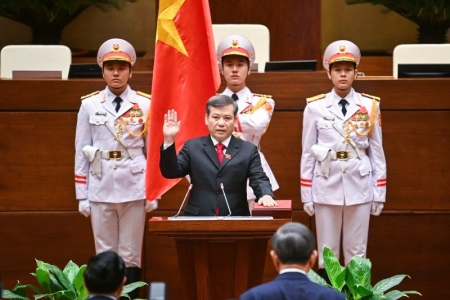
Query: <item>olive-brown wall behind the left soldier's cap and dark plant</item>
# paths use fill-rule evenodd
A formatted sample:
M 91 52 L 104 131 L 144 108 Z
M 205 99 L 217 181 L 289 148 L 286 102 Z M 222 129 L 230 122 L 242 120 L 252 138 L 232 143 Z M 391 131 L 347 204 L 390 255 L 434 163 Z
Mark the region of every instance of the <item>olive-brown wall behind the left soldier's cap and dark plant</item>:
M 73 49 L 96 50 L 102 42 L 117 37 L 128 40 L 137 51 L 153 56 L 156 31 L 156 0 L 126 3 L 123 10 L 103 12 L 90 7 L 63 31 L 61 44 Z M 0 47 L 27 44 L 31 30 L 20 23 L 0 18 Z

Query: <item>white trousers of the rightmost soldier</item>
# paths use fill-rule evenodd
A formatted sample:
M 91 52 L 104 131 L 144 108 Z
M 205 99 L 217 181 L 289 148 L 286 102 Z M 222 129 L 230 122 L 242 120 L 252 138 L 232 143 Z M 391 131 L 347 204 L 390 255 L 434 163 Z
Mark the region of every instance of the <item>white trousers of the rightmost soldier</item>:
M 324 268 L 323 247 L 340 256 L 341 234 L 345 265 L 353 256 L 366 257 L 372 202 L 351 206 L 314 203 L 319 268 Z

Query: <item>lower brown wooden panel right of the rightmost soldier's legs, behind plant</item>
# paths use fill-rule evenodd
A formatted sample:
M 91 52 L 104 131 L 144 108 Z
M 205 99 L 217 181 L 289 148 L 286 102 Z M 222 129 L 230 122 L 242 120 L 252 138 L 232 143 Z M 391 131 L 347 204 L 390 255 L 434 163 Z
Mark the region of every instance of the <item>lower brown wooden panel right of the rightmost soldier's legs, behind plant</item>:
M 372 283 L 407 274 L 401 291 L 417 290 L 423 297 L 449 299 L 449 214 L 381 214 L 370 220 L 367 256 L 372 262 Z

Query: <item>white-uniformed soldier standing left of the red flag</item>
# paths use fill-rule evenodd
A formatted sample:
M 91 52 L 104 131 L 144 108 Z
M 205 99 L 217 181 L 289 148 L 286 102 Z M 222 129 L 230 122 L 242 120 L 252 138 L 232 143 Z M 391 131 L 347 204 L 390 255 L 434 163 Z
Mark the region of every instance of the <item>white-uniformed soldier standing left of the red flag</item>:
M 150 95 L 130 88 L 133 46 L 104 42 L 97 55 L 106 88 L 82 97 L 75 138 L 79 211 L 91 216 L 96 253 L 112 250 L 127 266 L 127 283 L 140 280 L 146 211 L 146 136 Z M 137 297 L 131 293 L 132 299 Z

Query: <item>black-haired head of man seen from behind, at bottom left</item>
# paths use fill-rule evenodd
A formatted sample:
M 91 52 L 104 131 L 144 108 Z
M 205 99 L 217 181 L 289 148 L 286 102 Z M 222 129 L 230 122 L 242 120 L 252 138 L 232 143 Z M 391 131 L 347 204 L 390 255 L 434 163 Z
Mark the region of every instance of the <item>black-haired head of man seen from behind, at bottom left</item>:
M 119 299 L 127 280 L 125 272 L 125 262 L 114 251 L 101 252 L 91 257 L 83 275 L 89 299 Z

